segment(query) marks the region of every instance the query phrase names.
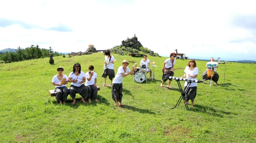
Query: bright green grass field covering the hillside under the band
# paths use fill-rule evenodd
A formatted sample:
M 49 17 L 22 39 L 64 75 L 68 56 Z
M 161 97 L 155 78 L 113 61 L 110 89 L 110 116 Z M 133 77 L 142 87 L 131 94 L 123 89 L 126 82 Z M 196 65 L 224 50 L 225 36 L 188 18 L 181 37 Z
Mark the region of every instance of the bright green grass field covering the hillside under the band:
M 142 57 L 113 54 L 117 62 Z M 148 56 L 155 61 L 156 81 L 133 82 L 132 76 L 123 81 L 124 107 L 116 107 L 111 98 L 111 87 L 102 87 L 104 55 L 54 57 L 0 64 L 0 142 L 2 143 L 255 143 L 256 142 L 256 64 L 228 62 L 219 64 L 220 76 L 214 85 L 198 83 L 195 105 L 186 110 L 180 103 L 176 81 L 173 89 L 160 87 L 162 66 L 168 57 Z M 175 68 L 186 67 L 189 60 L 177 60 Z M 206 61 L 196 61 L 198 80 L 206 70 Z M 98 74 L 98 100 L 100 103 L 80 102 L 75 105 L 68 97 L 66 105 L 58 105 L 48 90 L 54 89 L 51 81 L 61 66 L 67 76 L 74 63 L 82 71 L 95 66 Z M 128 67 L 132 67 L 130 63 Z M 180 77 L 184 69 L 175 71 Z M 148 76 L 148 75 L 147 75 Z M 180 81 L 182 87 L 184 81 Z M 107 80 L 109 84 L 109 80 Z M 70 87 L 70 83 L 67 85 Z M 87 100 L 88 101 L 88 100 Z M 191 101 L 190 101 L 191 103 Z

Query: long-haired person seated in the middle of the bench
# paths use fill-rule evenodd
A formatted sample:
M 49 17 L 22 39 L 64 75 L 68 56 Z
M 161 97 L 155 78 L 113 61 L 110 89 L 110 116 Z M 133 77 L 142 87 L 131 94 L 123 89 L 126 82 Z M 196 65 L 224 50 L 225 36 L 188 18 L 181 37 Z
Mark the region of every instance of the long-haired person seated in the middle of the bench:
M 73 71 L 69 74 L 69 82 L 71 86 L 69 88 L 70 97 L 73 99 L 72 104 L 76 103 L 76 93 L 82 96 L 82 102 L 86 103 L 85 98 L 89 97 L 89 89 L 83 83 L 85 82 L 85 74 L 81 71 L 80 63 L 73 65 Z

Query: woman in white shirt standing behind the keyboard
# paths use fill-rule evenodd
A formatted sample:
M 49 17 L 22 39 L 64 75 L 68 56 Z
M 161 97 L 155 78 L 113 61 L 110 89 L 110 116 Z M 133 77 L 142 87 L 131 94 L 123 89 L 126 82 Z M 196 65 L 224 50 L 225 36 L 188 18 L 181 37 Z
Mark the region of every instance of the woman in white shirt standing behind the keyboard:
M 197 75 L 199 70 L 197 68 L 197 63 L 194 59 L 189 60 L 184 72 L 185 74 L 181 78 L 186 77 L 187 79 L 197 80 Z M 185 81 L 184 90 L 186 86 L 187 86 L 187 81 Z M 185 93 L 186 104 L 188 104 L 188 101 L 191 100 L 192 101 L 191 106 L 194 106 L 194 100 L 195 100 L 195 97 L 197 96 L 197 83 L 191 82 L 189 87 L 186 87 L 186 88 L 187 88 L 186 89 L 187 91 Z

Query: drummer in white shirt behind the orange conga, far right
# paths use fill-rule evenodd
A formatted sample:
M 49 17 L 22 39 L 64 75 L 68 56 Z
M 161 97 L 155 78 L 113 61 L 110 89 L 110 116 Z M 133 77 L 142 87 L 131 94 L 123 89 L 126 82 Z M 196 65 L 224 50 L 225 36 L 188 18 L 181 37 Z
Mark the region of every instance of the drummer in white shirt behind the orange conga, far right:
M 214 62 L 214 58 L 210 59 L 210 62 L 207 62 L 205 67 L 208 67 L 207 65 L 212 65 L 214 68 L 214 75 L 212 77 L 212 80 L 216 83 L 216 85 L 219 85 L 218 80 L 219 80 L 219 74 L 216 72 L 216 68 L 219 67 L 217 62 Z M 216 65 L 216 66 L 215 66 Z M 204 73 L 202 74 L 202 80 L 209 80 L 207 77 L 207 70 L 204 71 Z

